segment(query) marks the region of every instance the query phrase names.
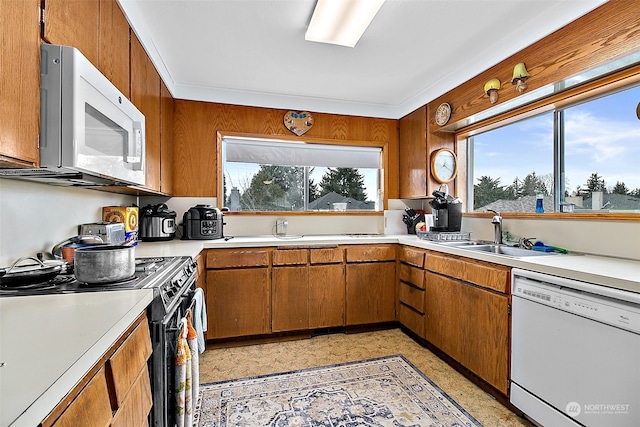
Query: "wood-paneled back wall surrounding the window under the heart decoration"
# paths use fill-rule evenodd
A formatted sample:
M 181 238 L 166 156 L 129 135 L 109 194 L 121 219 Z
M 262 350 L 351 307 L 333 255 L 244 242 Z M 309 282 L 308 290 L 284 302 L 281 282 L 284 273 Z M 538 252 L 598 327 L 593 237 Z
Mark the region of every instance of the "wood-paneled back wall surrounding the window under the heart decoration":
M 217 132 L 292 136 L 283 123 L 287 110 L 176 100 L 174 127 L 174 195 L 216 196 Z M 305 137 L 389 144 L 385 170 L 387 198 L 398 197 L 398 121 L 314 113 Z

